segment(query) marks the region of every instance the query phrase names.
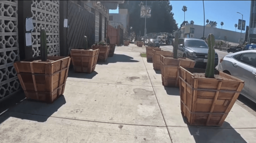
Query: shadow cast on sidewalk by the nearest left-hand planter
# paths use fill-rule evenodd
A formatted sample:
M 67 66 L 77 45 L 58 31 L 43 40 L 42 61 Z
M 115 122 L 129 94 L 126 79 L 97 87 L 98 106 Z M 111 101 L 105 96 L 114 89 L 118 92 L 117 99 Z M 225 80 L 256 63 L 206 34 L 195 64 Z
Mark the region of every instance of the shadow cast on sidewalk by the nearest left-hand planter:
M 7 108 L 6 111 L 0 115 L 0 124 L 7 120 L 9 117 L 36 122 L 45 122 L 54 112 L 56 112 L 62 105 L 66 103 L 66 100 L 65 97 L 61 95 L 51 104 L 39 101 L 31 101 L 27 99 L 13 103 L 13 107 Z M 28 114 L 41 116 L 28 116 Z

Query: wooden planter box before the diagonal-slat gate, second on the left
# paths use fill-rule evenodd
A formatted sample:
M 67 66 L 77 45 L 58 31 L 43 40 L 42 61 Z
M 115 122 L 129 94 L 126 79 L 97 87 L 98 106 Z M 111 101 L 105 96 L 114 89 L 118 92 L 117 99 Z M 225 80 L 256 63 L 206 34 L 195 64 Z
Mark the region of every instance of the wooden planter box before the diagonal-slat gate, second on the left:
M 92 73 L 95 70 L 97 63 L 99 49 L 83 50 L 83 49 L 71 49 L 71 60 L 76 72 Z

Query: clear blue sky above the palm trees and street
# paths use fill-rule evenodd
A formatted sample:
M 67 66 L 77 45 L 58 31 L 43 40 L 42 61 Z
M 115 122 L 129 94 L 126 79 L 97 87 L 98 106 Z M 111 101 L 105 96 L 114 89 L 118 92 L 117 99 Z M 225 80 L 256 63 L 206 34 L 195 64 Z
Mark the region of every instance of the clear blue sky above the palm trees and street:
M 221 28 L 220 22 L 223 22 L 222 29 L 235 31 L 234 25 L 238 24 L 238 19 L 242 19 L 241 14 L 245 25 L 249 26 L 251 1 L 204 1 L 204 3 L 205 20 L 216 21 L 217 28 Z M 184 12 L 181 10 L 183 5 L 187 6 L 185 21 L 193 20 L 197 25 L 204 25 L 203 1 L 170 1 L 170 4 L 178 27 L 184 21 Z M 110 10 L 110 13 L 118 13 L 118 9 Z M 240 30 L 236 29 L 236 31 Z

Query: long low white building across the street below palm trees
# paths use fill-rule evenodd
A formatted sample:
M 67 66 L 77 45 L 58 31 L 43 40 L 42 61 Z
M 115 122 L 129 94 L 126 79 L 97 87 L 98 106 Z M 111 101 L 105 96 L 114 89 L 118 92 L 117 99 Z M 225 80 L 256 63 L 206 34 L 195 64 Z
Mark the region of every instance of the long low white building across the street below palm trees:
M 184 26 L 181 27 L 180 37 L 183 37 L 183 29 L 184 29 Z M 188 25 L 185 25 L 184 32 L 185 32 L 185 37 L 202 38 L 203 31 L 204 31 L 204 26 L 188 24 Z M 225 36 L 227 37 L 226 41 L 229 41 L 229 42 L 239 43 L 239 40 L 240 40 L 240 32 L 214 28 L 214 27 L 210 27 L 210 24 L 206 24 L 204 37 L 207 38 L 209 34 L 213 34 L 215 39 L 218 39 L 218 40 L 225 40 Z M 244 41 L 244 39 L 245 39 L 245 33 L 242 33 L 242 42 Z

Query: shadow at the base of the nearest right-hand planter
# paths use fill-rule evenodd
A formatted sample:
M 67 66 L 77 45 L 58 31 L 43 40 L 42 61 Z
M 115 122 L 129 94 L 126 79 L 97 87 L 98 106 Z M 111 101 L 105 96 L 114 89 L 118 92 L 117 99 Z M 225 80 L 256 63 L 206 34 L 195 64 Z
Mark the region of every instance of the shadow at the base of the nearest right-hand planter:
M 182 114 L 182 113 L 181 113 Z M 243 137 L 226 121 L 222 127 L 216 126 L 191 126 L 183 116 L 190 134 L 194 137 L 195 143 L 247 143 Z

